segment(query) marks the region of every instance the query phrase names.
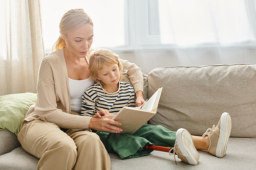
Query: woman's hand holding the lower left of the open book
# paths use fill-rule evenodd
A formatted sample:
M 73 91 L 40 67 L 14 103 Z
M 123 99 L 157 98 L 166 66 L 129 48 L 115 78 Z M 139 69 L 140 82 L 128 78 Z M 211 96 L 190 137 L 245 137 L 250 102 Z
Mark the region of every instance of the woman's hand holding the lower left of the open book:
M 89 122 L 89 128 L 96 131 L 105 131 L 112 133 L 120 133 L 123 131 L 121 128 L 115 127 L 113 125 L 121 125 L 120 122 L 112 120 L 115 115 L 104 115 L 101 117 L 92 117 Z

